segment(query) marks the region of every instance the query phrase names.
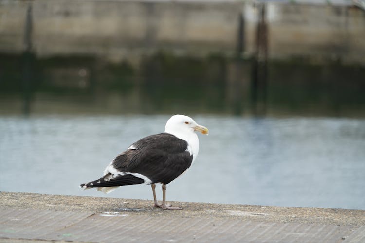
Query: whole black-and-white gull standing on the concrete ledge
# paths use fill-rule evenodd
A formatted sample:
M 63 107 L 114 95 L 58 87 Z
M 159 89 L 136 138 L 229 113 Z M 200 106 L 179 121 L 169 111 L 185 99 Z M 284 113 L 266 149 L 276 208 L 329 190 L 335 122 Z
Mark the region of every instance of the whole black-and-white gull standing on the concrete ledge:
M 184 115 L 172 116 L 164 133 L 147 136 L 129 146 L 107 166 L 103 177 L 80 187 L 96 187 L 109 193 L 119 186 L 151 185 L 155 207 L 182 209 L 166 204 L 166 185 L 183 174 L 199 152 L 199 139 L 195 131 L 208 135 L 208 129 Z M 163 199 L 156 199 L 156 183 L 162 184 Z

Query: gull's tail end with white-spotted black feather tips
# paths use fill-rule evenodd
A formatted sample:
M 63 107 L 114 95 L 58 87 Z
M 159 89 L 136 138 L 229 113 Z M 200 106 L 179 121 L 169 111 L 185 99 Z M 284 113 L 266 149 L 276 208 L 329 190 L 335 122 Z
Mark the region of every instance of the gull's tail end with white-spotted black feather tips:
M 135 177 L 131 174 L 117 175 L 114 177 L 113 174 L 108 173 L 98 180 L 94 180 L 88 183 L 83 183 L 80 185 L 80 187 L 83 189 L 90 189 L 93 187 L 97 187 L 98 191 L 110 193 L 119 186 L 142 184 L 144 182 L 145 181 L 143 179 Z

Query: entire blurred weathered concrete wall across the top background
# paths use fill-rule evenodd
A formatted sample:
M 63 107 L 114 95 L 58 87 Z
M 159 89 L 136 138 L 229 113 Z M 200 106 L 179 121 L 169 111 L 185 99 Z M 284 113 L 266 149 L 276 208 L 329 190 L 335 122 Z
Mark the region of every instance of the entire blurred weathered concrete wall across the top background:
M 265 10 L 269 59 L 365 63 L 364 10 L 275 2 Z M 0 52 L 22 52 L 30 41 L 38 56 L 97 55 L 133 62 L 166 50 L 250 57 L 256 53 L 259 15 L 247 1 L 2 0 Z

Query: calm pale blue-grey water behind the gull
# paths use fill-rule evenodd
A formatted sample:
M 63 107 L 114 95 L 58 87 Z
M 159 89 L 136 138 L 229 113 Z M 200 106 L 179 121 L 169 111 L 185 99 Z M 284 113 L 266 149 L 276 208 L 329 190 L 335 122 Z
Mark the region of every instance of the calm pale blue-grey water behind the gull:
M 78 185 L 168 117 L 0 116 L 0 191 L 151 199 L 146 185 Z M 364 119 L 193 117 L 210 135 L 168 200 L 365 209 Z

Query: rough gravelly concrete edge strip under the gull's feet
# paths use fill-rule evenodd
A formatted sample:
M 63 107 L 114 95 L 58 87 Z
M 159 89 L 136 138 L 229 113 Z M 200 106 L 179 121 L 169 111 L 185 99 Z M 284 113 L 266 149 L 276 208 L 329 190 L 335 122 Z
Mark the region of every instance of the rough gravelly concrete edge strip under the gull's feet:
M 341 226 L 364 226 L 365 210 L 338 208 L 295 208 L 258 205 L 170 202 L 183 210 L 152 207 L 151 200 L 103 198 L 89 196 L 48 195 L 22 192 L 0 192 L 3 208 L 30 208 L 73 212 L 126 212 L 161 217 L 205 217 L 241 219 L 279 223 L 305 223 Z

